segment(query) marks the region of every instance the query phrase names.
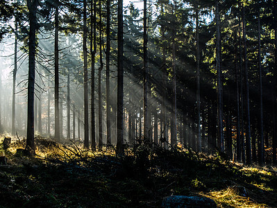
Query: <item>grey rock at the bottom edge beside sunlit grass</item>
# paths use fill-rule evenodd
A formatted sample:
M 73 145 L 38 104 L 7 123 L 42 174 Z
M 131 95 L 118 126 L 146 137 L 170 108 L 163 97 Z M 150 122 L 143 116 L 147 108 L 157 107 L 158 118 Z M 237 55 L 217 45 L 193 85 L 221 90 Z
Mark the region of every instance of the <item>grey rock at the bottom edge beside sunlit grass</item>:
M 214 200 L 199 196 L 168 196 L 162 200 L 162 207 L 167 208 L 214 208 Z

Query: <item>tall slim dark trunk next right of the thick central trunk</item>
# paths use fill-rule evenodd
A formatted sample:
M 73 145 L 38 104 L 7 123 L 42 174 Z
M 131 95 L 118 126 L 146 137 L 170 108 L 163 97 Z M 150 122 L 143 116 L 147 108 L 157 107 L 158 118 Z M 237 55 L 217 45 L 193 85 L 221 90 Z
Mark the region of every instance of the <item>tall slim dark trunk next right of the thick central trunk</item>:
M 144 101 L 144 137 L 149 138 L 148 109 L 148 64 L 147 64 L 147 1 L 143 1 L 143 101 Z

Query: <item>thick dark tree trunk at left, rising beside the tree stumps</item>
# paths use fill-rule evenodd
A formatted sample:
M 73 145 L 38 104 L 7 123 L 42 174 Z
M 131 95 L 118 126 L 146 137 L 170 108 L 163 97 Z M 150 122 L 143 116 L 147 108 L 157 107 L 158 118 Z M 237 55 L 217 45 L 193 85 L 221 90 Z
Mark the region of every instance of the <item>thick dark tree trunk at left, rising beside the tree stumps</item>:
M 26 150 L 31 154 L 35 154 L 34 139 L 34 96 L 35 96 L 35 33 L 37 31 L 37 0 L 28 0 L 27 6 L 29 10 L 29 60 L 28 60 L 28 116 L 27 116 L 27 139 Z

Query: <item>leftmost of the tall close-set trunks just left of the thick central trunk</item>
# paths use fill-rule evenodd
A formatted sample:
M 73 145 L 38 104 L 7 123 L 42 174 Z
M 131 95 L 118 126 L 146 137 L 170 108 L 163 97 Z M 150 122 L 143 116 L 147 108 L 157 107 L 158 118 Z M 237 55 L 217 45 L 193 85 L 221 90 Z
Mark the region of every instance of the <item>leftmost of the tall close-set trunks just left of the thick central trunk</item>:
M 84 56 L 84 148 L 90 148 L 87 98 L 87 0 L 83 0 L 83 56 Z

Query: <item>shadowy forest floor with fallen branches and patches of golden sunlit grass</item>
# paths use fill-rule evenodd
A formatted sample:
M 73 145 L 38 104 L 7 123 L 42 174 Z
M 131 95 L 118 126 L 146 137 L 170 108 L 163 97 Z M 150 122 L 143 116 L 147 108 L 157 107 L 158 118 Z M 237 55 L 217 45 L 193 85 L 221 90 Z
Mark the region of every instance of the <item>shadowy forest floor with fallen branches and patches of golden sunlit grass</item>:
M 25 142 L 0 146 L 8 159 L 0 164 L 0 207 L 160 207 L 171 195 L 205 196 L 217 207 L 277 207 L 276 167 L 147 142 L 119 156 L 112 148 L 92 152 L 42 137 L 27 157 L 17 152 Z

